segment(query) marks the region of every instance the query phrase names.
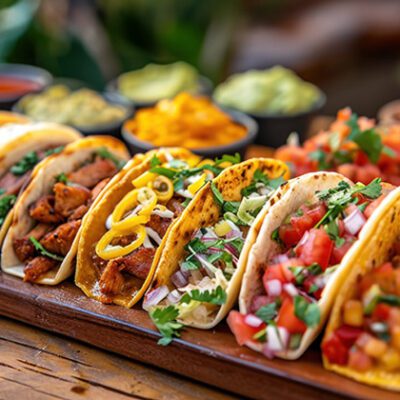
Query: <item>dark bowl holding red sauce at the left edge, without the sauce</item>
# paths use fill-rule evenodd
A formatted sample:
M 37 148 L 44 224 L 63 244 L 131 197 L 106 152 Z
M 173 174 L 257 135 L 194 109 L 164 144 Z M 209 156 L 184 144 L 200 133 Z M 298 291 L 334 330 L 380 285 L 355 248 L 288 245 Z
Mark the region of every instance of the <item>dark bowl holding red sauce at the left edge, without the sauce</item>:
M 9 95 L 2 95 L 0 93 L 0 108 L 3 110 L 10 110 L 21 97 L 28 93 L 39 92 L 53 81 L 53 77 L 49 72 L 42 68 L 34 67 L 33 65 L 0 64 L 0 78 L 7 77 L 28 81 L 33 84 L 34 87 L 32 87 L 31 90 L 16 92 Z

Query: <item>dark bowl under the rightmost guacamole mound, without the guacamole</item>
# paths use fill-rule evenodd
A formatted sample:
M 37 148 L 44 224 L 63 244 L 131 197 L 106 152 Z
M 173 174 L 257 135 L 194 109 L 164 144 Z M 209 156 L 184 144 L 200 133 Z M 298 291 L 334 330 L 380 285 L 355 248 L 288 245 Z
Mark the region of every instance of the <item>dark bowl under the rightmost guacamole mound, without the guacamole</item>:
M 288 136 L 292 132 L 297 132 L 300 142 L 306 139 L 306 133 L 310 125 L 310 121 L 325 105 L 326 96 L 320 92 L 320 98 L 309 111 L 294 115 L 266 115 L 251 114 L 258 124 L 257 144 L 268 147 L 280 147 L 286 144 Z

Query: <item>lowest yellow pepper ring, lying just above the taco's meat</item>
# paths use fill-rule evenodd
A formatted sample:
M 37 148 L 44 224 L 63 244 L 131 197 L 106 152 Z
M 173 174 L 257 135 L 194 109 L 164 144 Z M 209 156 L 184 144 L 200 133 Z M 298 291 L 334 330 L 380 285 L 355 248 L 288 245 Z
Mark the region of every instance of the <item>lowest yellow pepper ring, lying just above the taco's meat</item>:
M 137 238 L 132 243 L 128 244 L 128 246 L 122 247 L 110 245 L 113 239 L 132 233 L 135 233 L 137 235 Z M 143 225 L 134 226 L 129 230 L 129 233 L 126 231 L 120 232 L 111 229 L 110 231 L 106 232 L 97 242 L 96 254 L 103 260 L 112 260 L 113 258 L 123 257 L 140 247 L 143 244 L 145 238 L 146 230 Z

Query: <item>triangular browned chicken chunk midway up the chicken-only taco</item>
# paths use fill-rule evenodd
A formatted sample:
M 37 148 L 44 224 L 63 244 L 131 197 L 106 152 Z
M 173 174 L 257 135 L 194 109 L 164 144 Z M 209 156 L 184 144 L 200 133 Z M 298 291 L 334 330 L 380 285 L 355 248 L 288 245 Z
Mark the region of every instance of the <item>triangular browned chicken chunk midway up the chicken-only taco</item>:
M 86 204 L 91 197 L 89 189 L 80 185 L 68 186 L 58 182 L 53 187 L 55 193 L 54 209 L 68 218 L 79 206 Z

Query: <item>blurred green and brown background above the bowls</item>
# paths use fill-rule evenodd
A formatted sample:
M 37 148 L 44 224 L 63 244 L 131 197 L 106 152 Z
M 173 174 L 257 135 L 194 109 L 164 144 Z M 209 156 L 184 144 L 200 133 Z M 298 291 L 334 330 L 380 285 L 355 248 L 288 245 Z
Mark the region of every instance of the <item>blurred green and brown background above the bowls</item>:
M 149 62 L 187 61 L 214 83 L 292 68 L 324 112 L 374 116 L 400 93 L 399 0 L 0 0 L 0 62 L 102 89 Z

